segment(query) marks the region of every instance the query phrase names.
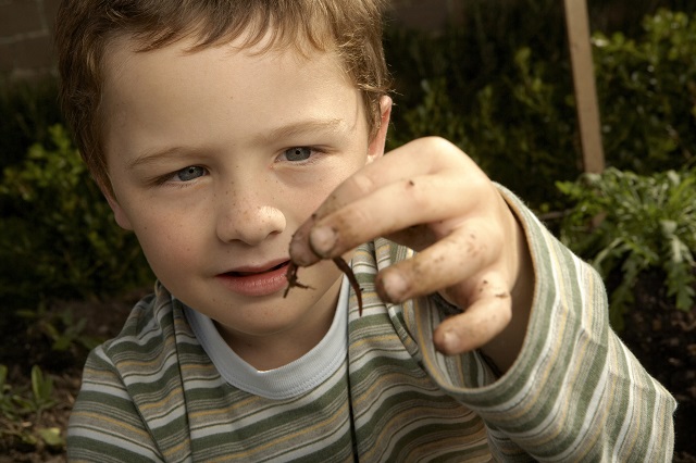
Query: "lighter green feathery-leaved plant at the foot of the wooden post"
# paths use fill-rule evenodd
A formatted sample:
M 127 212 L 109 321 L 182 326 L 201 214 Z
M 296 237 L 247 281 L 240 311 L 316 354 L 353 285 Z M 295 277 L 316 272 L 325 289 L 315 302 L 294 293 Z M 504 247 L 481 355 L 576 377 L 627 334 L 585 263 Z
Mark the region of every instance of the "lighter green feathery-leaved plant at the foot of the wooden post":
M 575 203 L 561 224 L 561 240 L 605 278 L 621 276 L 610 295 L 614 328 L 623 328 L 633 288 L 650 270 L 663 273 L 678 309 L 694 308 L 696 170 L 642 176 L 609 168 L 557 186 Z

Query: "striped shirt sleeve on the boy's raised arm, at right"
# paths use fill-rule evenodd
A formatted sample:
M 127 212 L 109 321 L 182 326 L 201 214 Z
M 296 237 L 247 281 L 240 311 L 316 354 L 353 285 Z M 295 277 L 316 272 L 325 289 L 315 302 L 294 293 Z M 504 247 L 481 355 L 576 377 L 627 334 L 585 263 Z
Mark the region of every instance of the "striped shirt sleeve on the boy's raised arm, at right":
M 467 374 L 427 339 L 442 315 L 420 300 L 412 331 L 426 370 L 484 420 L 498 460 L 671 461 L 675 401 L 610 329 L 601 278 L 504 195 L 523 224 L 536 276 L 522 351 L 498 379 Z

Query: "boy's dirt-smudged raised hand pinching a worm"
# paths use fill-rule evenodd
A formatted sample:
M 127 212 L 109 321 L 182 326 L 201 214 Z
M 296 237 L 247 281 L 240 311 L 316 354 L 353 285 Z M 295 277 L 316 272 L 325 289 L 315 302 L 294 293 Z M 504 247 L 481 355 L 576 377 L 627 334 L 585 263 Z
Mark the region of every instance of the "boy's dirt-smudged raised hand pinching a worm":
M 450 142 L 405 145 L 344 182 L 295 234 L 301 266 L 383 236 L 419 251 L 377 275 L 382 299 L 439 291 L 462 313 L 435 331 L 438 350 L 482 348 L 500 370 L 521 349 L 533 291 L 522 229 L 496 187 Z

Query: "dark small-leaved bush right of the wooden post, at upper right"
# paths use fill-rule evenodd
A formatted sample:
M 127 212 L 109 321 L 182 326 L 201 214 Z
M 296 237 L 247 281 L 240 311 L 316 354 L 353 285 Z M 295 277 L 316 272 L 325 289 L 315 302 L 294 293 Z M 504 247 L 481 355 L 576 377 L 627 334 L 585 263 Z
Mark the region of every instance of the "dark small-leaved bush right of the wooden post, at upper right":
M 639 39 L 593 37 L 609 163 L 638 174 L 696 162 L 696 15 L 660 10 Z

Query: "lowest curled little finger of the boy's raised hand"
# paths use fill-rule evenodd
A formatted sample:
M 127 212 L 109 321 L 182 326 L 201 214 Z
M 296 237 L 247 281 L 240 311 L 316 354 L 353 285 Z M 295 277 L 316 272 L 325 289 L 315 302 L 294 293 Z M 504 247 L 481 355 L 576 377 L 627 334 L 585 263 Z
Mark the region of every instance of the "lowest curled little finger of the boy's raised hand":
M 458 315 L 445 320 L 433 334 L 435 348 L 447 355 L 480 349 L 512 320 L 512 298 L 502 285 L 488 281 L 482 297 Z

